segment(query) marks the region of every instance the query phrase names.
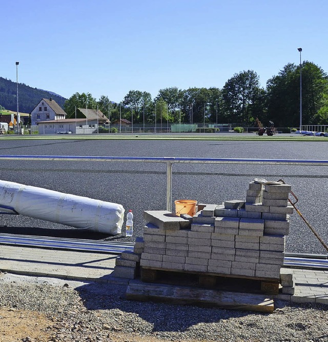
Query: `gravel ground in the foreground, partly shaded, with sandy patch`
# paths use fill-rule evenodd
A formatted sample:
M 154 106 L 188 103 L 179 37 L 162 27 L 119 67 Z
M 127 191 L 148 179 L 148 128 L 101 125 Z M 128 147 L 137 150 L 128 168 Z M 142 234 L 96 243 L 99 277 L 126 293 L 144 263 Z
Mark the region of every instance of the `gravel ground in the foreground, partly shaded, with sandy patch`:
M 128 301 L 125 290 L 0 274 L 0 341 L 328 341 L 326 306 L 277 301 L 262 314 Z M 32 325 L 23 333 L 15 324 L 22 318 Z

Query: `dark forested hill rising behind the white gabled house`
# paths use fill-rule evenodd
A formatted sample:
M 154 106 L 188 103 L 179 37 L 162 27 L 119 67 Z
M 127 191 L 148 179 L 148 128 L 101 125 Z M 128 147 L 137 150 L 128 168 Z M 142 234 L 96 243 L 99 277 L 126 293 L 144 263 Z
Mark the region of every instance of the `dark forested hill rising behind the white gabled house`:
M 16 94 L 16 82 L 0 77 L 0 106 L 8 110 L 16 111 Z M 61 108 L 64 108 L 65 97 L 50 91 L 32 88 L 25 84 L 18 83 L 18 109 L 21 113 L 30 113 L 42 98 L 50 97 L 52 97 Z

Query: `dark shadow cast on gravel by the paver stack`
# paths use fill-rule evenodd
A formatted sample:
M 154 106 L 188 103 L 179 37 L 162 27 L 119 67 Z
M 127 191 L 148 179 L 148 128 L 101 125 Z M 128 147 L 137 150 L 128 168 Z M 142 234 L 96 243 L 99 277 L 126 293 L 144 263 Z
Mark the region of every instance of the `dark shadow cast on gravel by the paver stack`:
M 201 323 L 214 323 L 250 314 L 267 315 L 258 312 L 127 300 L 125 299 L 126 284 L 92 283 L 77 287 L 75 290 L 88 310 L 113 310 L 113 315 L 117 316 L 116 327 L 131 324 L 131 329 L 138 330 L 140 327 L 140 331 L 142 331 L 142 320 L 152 325 L 152 332 L 181 332 Z M 140 324 L 136 324 L 137 319 L 140 319 Z

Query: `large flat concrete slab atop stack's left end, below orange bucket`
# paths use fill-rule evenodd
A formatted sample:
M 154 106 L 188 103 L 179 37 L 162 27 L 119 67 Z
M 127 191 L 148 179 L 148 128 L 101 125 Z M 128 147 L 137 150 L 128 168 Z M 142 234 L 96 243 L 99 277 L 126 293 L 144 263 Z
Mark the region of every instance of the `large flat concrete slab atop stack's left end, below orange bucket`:
M 183 219 L 167 210 L 144 211 L 144 219 L 146 222 L 152 223 L 159 229 L 164 230 L 188 229 L 190 226 L 189 220 Z

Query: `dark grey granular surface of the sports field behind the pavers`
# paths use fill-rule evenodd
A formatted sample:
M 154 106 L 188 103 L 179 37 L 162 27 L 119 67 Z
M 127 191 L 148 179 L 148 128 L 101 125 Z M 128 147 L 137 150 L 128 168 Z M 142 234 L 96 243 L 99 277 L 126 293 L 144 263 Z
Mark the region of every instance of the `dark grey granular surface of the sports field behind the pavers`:
M 326 140 L 314 142 L 207 141 L 207 140 L 0 140 L 0 154 L 80 155 L 140 157 L 227 157 L 270 159 L 328 159 Z M 245 199 L 255 178 L 292 185 L 297 207 L 328 244 L 328 168 L 322 166 L 275 165 L 173 165 L 172 196 L 220 204 Z M 142 235 L 144 210 L 166 209 L 166 165 L 163 163 L 109 163 L 57 161 L 0 161 L 0 179 L 55 191 L 106 200 L 134 213 L 133 237 L 86 233 L 20 215 L 0 215 L 0 232 L 31 235 L 129 241 Z M 174 208 L 174 205 L 172 206 Z M 310 229 L 294 213 L 286 251 L 325 254 Z

